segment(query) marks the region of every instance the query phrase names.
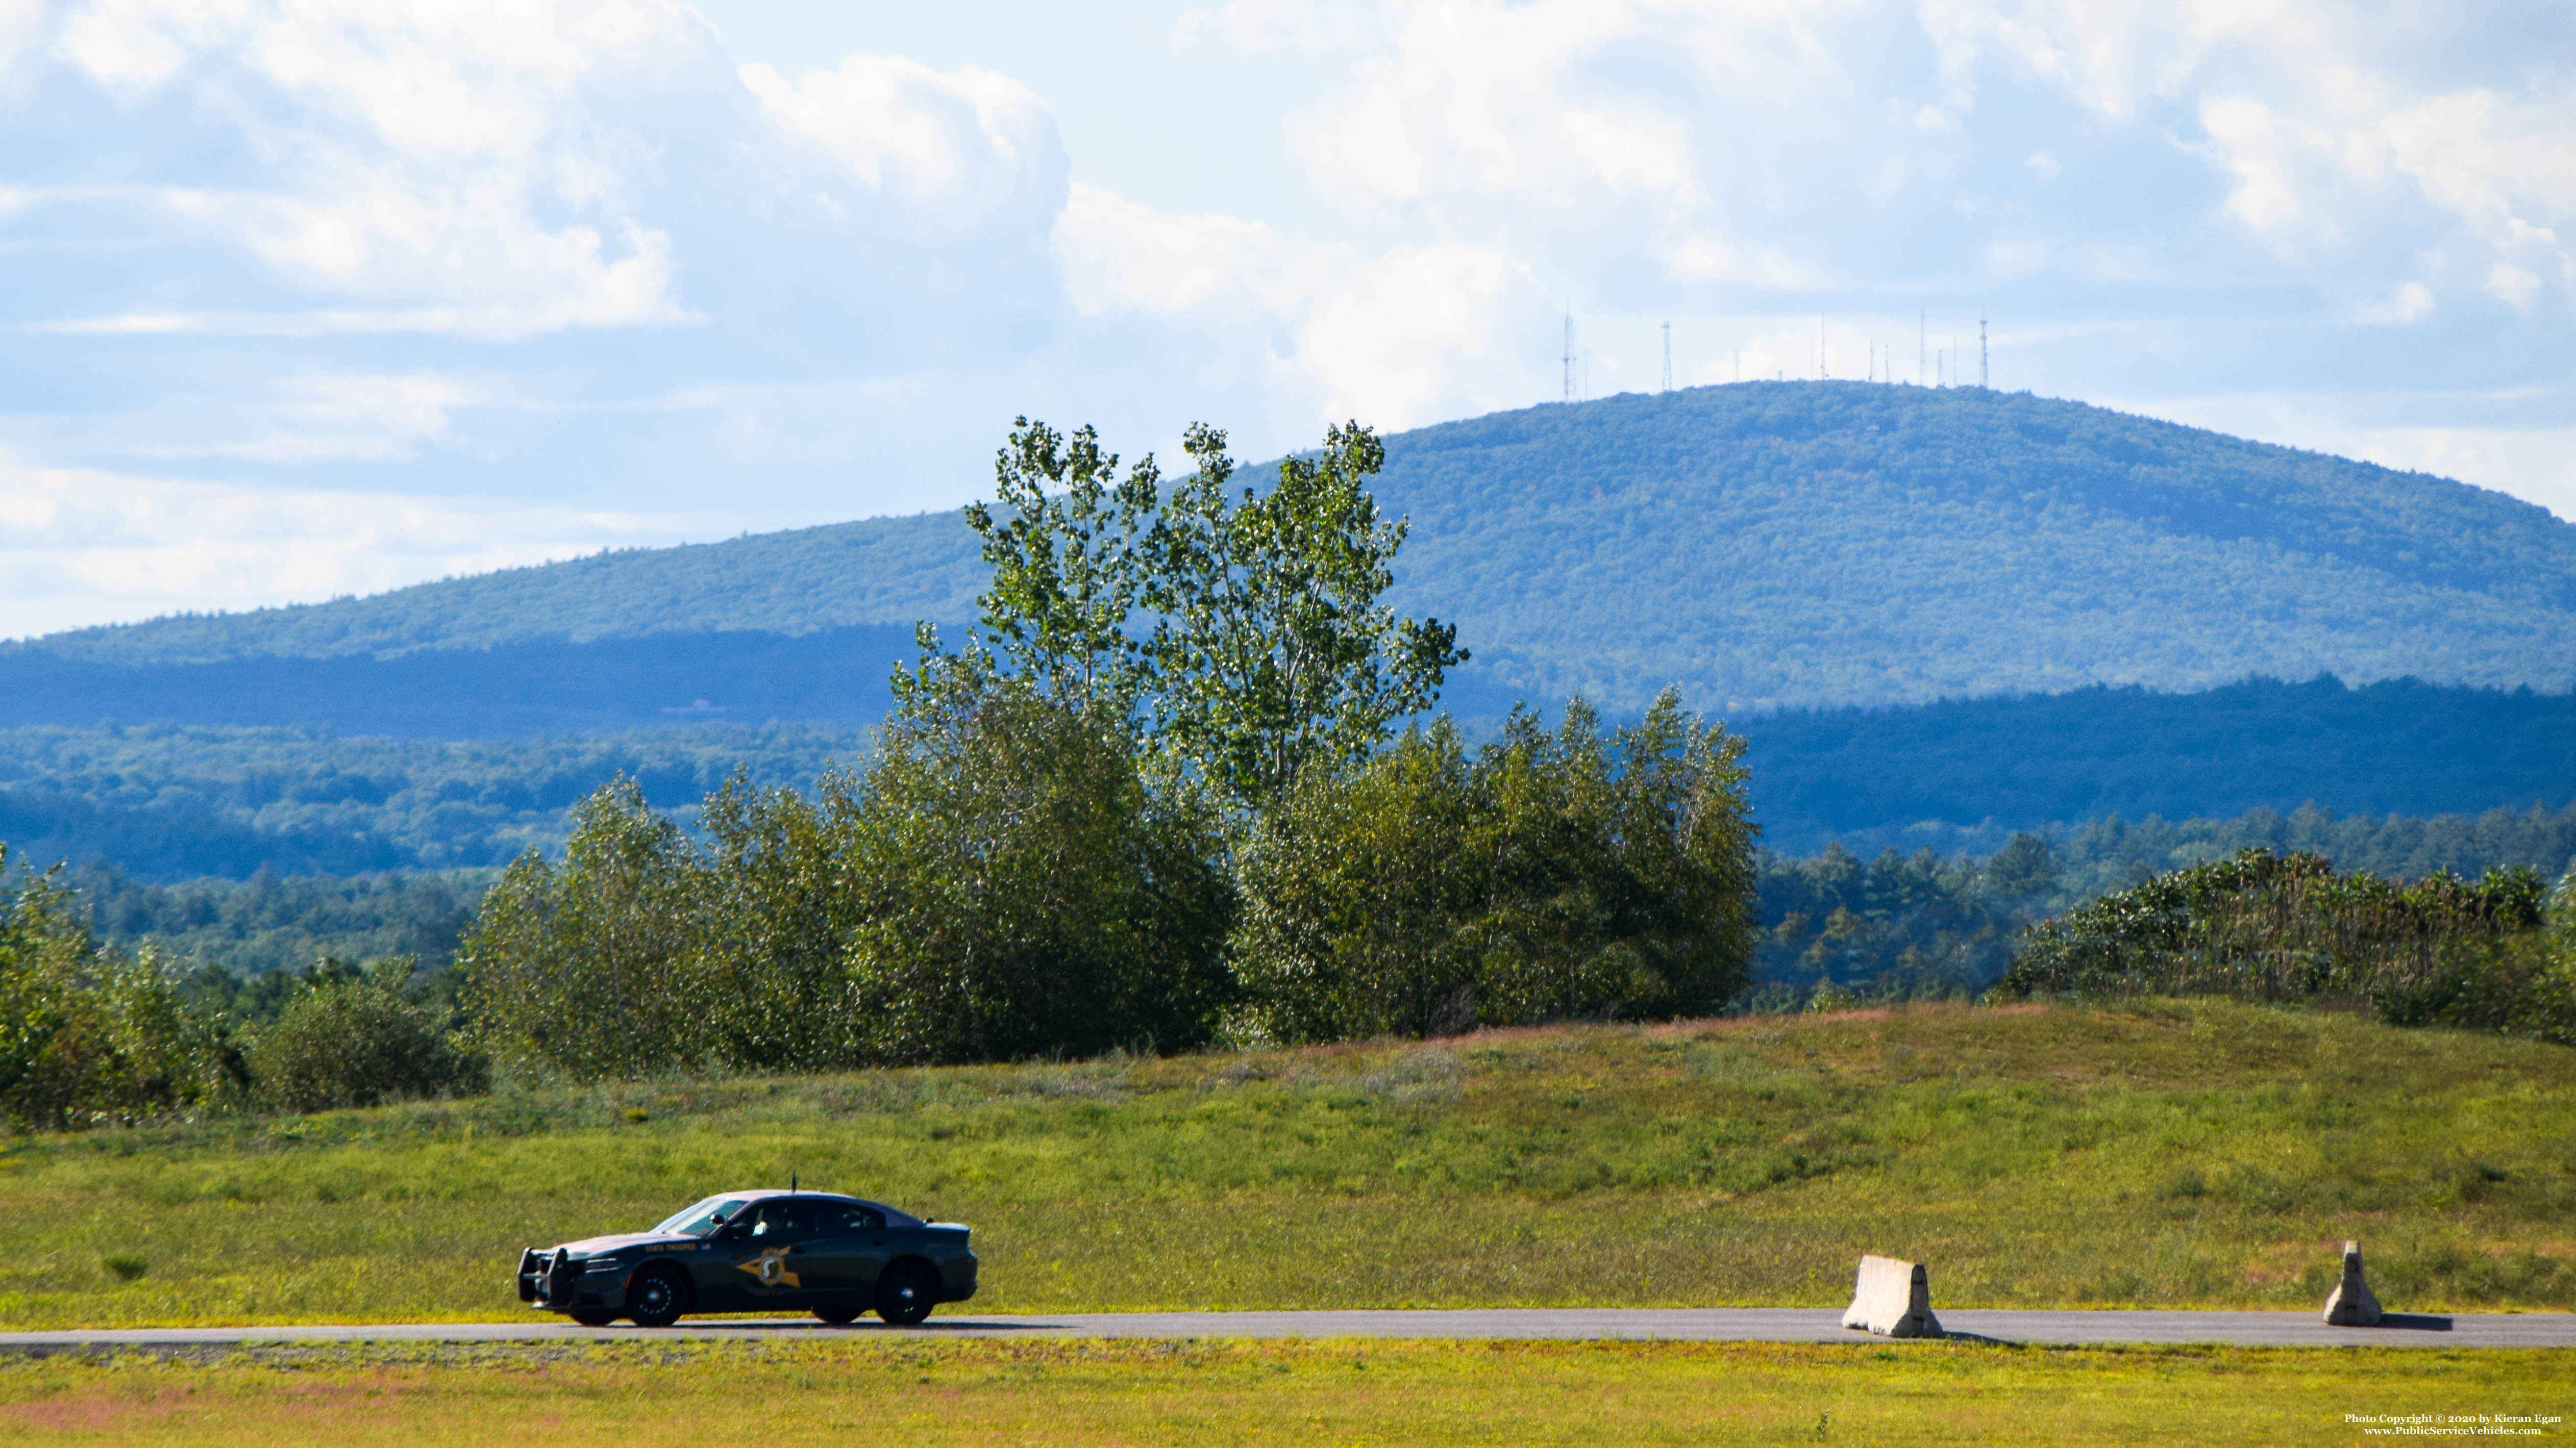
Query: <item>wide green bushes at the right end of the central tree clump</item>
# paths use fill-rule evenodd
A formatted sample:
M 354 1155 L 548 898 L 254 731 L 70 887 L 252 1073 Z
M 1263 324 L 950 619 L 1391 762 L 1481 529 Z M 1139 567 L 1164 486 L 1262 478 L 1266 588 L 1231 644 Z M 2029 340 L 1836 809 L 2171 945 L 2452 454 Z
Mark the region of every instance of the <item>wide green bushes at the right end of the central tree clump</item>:
M 1303 778 L 1244 850 L 1236 1036 L 1721 1010 L 1754 951 L 1741 750 L 1672 693 L 1610 737 L 1577 698 L 1473 760 L 1443 721 Z

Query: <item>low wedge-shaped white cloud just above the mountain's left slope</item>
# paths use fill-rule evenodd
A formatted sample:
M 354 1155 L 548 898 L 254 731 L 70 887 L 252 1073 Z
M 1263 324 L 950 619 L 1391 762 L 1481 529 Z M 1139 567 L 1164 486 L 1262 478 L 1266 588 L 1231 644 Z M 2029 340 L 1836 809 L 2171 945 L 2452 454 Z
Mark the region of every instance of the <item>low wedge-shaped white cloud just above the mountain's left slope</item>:
M 379 593 L 729 520 L 142 479 L 0 459 L 0 636 Z

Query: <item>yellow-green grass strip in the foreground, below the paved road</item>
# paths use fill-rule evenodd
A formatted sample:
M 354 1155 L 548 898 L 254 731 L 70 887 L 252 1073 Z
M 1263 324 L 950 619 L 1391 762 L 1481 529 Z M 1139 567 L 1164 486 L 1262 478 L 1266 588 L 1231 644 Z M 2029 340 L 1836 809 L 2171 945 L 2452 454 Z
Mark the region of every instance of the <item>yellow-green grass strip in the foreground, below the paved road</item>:
M 1698 1342 L 270 1350 L 0 1366 L 0 1445 L 2370 1443 L 2553 1420 L 2568 1353 Z M 2519 1425 L 2517 1425 L 2519 1427 Z M 2561 1440 L 2561 1422 L 2535 1422 Z

